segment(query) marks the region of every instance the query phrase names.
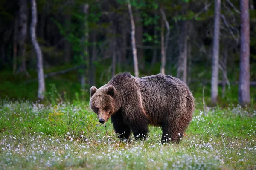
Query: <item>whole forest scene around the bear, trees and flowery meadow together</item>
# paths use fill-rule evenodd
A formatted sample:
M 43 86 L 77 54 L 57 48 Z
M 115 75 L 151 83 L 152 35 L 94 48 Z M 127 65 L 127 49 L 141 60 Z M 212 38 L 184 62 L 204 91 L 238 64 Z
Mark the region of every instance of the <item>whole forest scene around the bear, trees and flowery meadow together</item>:
M 256 169 L 256 0 L 1 0 L 0 169 Z M 179 144 L 120 141 L 90 87 L 171 75 Z

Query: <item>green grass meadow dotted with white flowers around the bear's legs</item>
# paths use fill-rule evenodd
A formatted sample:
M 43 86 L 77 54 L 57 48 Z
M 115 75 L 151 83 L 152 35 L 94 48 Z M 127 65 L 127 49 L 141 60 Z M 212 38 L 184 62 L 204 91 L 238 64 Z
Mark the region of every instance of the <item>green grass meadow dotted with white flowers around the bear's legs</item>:
M 161 128 L 145 141 L 119 141 L 87 102 L 54 105 L 2 99 L 0 169 L 255 169 L 256 110 L 197 105 L 180 144 L 161 144 Z

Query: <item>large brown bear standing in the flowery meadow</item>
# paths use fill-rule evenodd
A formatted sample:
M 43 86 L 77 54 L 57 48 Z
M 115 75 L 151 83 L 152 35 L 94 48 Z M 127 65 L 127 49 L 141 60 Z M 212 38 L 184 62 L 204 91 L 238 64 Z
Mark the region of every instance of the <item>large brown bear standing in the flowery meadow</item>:
M 162 142 L 179 142 L 192 120 L 194 98 L 188 86 L 170 75 L 137 78 L 128 72 L 107 84 L 90 88 L 90 108 L 99 122 L 111 118 L 119 138 L 146 138 L 148 124 L 161 126 Z

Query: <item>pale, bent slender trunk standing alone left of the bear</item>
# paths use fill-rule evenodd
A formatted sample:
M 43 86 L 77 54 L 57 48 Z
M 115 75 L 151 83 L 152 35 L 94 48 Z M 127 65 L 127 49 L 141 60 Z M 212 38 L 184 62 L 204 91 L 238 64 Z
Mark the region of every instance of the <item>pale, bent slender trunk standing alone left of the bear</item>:
M 44 82 L 44 69 L 43 69 L 43 56 L 36 39 L 36 24 L 37 24 L 37 9 L 35 0 L 31 0 L 31 25 L 30 34 L 31 41 L 37 56 L 37 71 L 38 71 L 38 98 L 43 100 L 45 93 L 45 82 Z

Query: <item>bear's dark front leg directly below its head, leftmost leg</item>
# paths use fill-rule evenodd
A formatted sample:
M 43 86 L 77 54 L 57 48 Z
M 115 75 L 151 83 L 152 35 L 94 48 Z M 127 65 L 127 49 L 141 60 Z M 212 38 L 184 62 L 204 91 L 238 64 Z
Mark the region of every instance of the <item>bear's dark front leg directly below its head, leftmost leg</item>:
M 116 112 L 114 115 L 111 116 L 111 122 L 113 123 L 114 130 L 116 134 L 118 134 L 118 137 L 121 140 L 124 140 L 124 139 L 128 140 L 131 134 L 131 129 L 123 121 L 123 118 L 120 112 Z

